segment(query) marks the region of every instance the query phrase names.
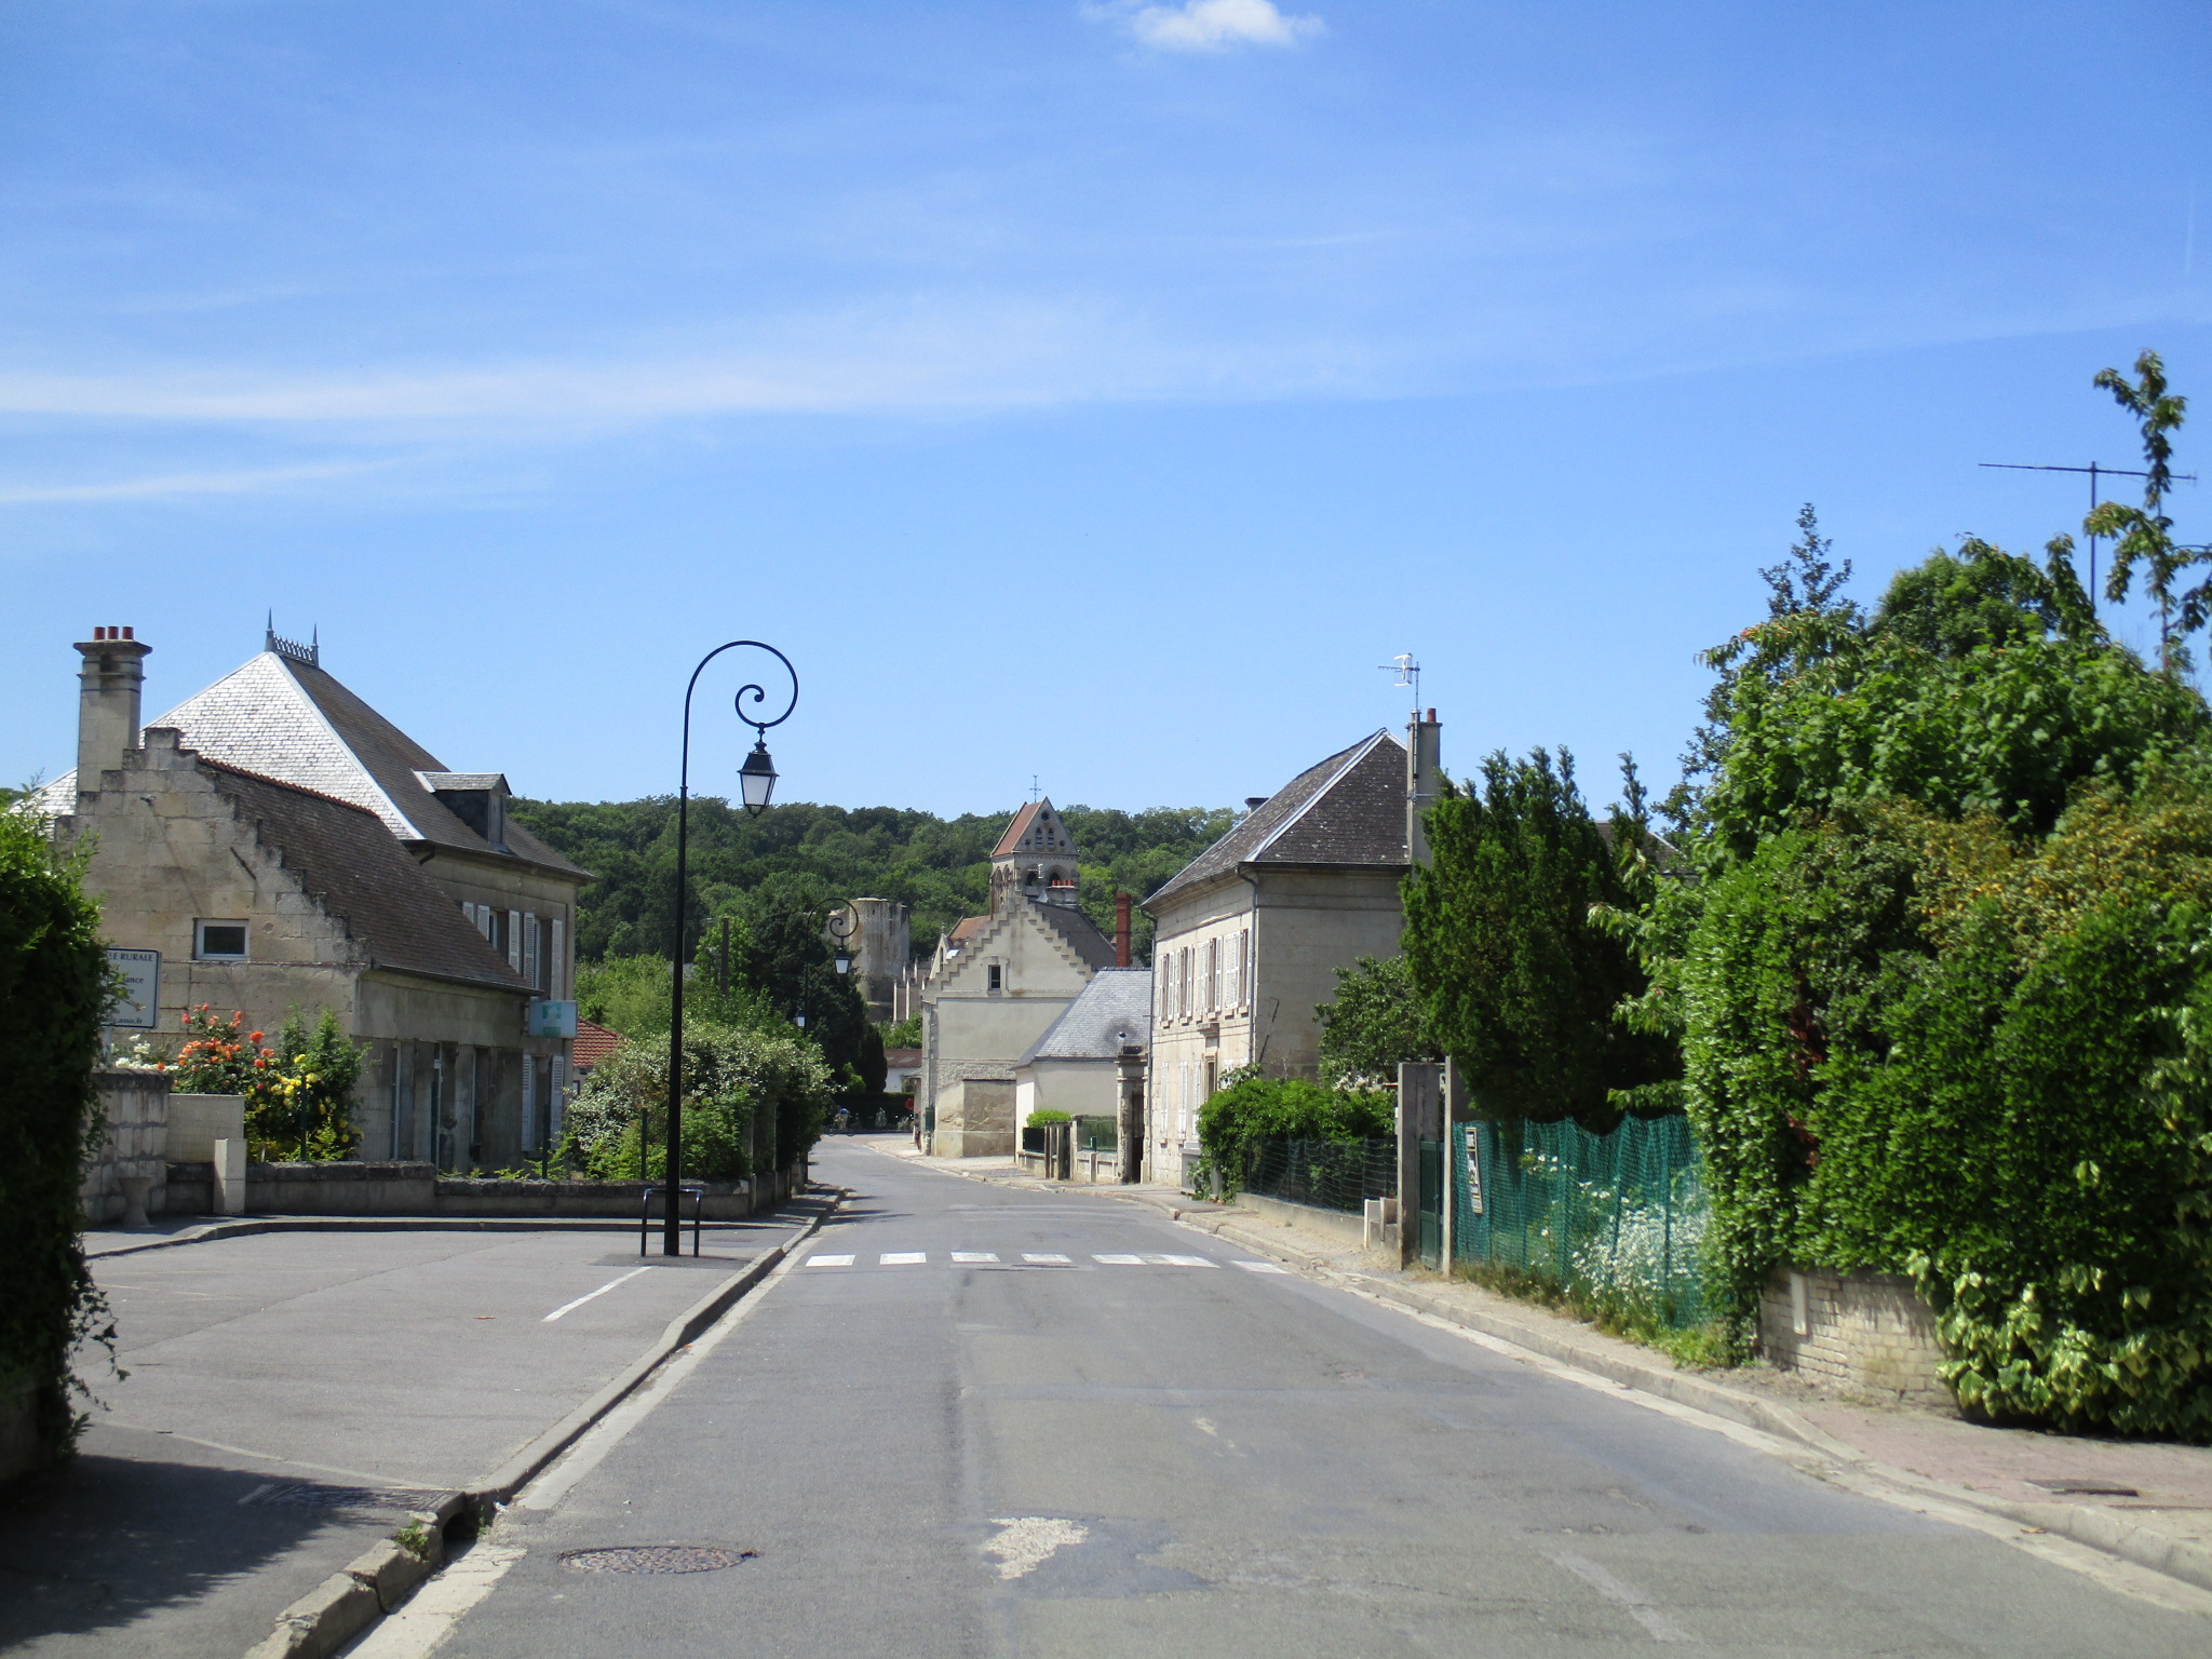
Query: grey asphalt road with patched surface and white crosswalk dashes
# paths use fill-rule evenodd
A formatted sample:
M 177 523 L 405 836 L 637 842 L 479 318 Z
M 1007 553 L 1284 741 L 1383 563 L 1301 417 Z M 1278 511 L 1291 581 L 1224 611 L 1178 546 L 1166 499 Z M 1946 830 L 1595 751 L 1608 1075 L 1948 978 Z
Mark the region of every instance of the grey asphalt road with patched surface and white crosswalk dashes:
M 858 1201 L 810 1265 L 363 1659 L 2212 1650 L 2203 1613 L 1141 1206 L 865 1146 L 816 1172 Z M 575 1555 L 664 1544 L 734 1564 Z

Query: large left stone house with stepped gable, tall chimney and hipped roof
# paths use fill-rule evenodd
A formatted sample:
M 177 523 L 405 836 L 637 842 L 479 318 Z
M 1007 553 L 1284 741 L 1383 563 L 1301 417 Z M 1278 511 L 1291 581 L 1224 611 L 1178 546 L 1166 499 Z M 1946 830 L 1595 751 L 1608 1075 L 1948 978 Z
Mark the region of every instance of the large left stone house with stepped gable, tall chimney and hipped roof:
M 449 772 L 321 666 L 265 650 L 139 730 L 150 646 L 80 653 L 77 770 L 44 792 L 111 947 L 155 967 L 139 1024 L 274 1033 L 330 1009 L 369 1046 L 372 1159 L 500 1168 L 560 1133 L 575 896 L 588 872 L 507 821 L 507 779 Z

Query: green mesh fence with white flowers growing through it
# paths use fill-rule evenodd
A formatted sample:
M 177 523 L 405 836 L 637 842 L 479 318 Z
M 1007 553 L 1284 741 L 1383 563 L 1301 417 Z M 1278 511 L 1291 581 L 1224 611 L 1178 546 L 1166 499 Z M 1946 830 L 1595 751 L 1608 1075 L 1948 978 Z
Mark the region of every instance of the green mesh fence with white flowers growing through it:
M 1524 1267 L 1672 1329 L 1703 1323 L 1705 1188 L 1688 1121 L 1628 1117 L 1610 1135 L 1460 1124 L 1447 1146 L 1455 1261 Z

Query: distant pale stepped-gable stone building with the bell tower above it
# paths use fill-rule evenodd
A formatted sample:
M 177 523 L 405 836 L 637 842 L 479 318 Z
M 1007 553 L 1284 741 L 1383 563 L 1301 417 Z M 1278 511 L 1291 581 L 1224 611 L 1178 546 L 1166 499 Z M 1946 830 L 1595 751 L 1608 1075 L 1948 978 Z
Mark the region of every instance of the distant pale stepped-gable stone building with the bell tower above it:
M 1075 907 L 1077 849 L 1051 801 L 1022 807 L 991 849 L 991 909 L 942 940 L 920 984 L 920 1108 L 940 1157 L 1015 1146 L 1015 1068 L 1115 940 Z M 1126 964 L 1126 942 L 1119 960 Z

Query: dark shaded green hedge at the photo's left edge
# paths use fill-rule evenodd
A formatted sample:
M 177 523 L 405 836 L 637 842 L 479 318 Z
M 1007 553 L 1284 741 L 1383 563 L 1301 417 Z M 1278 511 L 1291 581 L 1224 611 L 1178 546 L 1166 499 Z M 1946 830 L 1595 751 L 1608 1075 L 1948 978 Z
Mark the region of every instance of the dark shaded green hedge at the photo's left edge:
M 77 1199 L 100 1137 L 93 1062 L 108 1002 L 100 909 L 77 876 L 38 818 L 0 810 L 0 1400 L 29 1391 L 49 1467 L 84 1427 L 71 1354 L 115 1336 Z

